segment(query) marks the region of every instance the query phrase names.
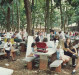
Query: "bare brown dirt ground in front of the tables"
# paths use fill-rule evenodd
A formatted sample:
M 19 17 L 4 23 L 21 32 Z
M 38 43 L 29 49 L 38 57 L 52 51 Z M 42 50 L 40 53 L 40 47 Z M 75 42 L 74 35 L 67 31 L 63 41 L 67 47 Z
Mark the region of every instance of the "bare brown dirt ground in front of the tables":
M 71 67 L 71 62 L 69 62 L 66 67 L 62 68 L 61 73 L 56 73 L 54 71 L 50 71 L 49 69 L 46 71 L 39 69 L 28 70 L 26 67 L 26 62 L 22 60 L 24 57 L 25 53 L 22 52 L 20 56 L 16 56 L 16 61 L 8 62 L 7 59 L 0 59 L 0 67 L 13 69 L 14 72 L 12 75 L 71 75 L 73 70 Z M 5 64 L 9 64 L 9 66 L 6 66 Z M 78 71 L 75 75 L 79 75 Z

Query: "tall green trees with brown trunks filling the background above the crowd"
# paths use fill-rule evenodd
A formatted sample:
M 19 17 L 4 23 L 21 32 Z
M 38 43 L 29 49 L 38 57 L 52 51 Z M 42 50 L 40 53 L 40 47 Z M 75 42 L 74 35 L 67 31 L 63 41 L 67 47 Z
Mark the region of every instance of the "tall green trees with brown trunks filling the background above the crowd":
M 79 28 L 79 0 L 0 0 L 0 28 L 26 29 L 30 34 L 39 25 L 48 32 L 53 27 L 65 31 L 67 25 Z

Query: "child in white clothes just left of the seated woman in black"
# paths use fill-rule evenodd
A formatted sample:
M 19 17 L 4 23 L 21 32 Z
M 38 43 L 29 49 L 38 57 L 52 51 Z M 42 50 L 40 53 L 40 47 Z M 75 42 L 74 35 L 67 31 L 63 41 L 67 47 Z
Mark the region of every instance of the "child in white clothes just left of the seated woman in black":
M 66 62 L 69 61 L 70 57 L 64 55 L 63 49 L 64 49 L 64 42 L 63 42 L 63 40 L 59 40 L 59 43 L 57 46 L 57 52 L 59 52 L 59 54 L 57 53 L 58 54 L 57 56 L 58 56 L 58 59 L 63 60 L 63 65 L 66 65 Z

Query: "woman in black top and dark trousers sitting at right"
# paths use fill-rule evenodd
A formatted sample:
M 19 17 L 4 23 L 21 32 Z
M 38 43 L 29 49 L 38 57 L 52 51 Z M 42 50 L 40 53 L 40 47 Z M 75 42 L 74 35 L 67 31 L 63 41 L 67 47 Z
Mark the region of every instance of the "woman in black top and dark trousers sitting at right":
M 72 67 L 75 67 L 75 55 L 77 54 L 77 50 L 71 47 L 71 40 L 70 38 L 66 39 L 64 43 L 64 54 L 72 58 Z

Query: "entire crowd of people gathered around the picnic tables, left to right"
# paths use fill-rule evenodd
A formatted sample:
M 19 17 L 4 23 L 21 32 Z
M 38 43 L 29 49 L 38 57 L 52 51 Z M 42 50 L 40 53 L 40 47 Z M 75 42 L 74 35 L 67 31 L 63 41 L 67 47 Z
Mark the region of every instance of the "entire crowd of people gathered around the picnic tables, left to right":
M 32 43 L 32 51 L 37 52 L 37 42 L 44 42 L 46 43 L 47 47 L 53 47 L 53 44 L 51 41 L 58 42 L 58 45 L 56 47 L 57 52 L 57 59 L 63 60 L 63 65 L 66 65 L 67 62 L 70 61 L 70 58 L 72 58 L 72 67 L 75 67 L 75 69 L 72 71 L 72 74 L 74 74 L 79 67 L 79 53 L 78 49 L 76 49 L 73 46 L 72 39 L 78 39 L 79 33 L 78 32 L 64 32 L 64 31 L 54 31 L 50 30 L 49 37 L 47 37 L 47 33 L 44 31 L 38 31 L 34 34 L 34 43 Z M 13 45 L 10 42 L 11 38 L 14 38 L 15 42 L 21 42 L 26 41 L 28 37 L 28 33 L 26 31 L 16 31 L 16 32 L 4 32 L 0 33 L 0 44 L 2 43 L 1 37 L 7 38 L 7 42 L 4 45 L 5 52 L 7 53 L 8 57 L 12 56 L 12 60 L 15 60 L 11 49 Z M 50 40 L 49 40 L 50 39 Z M 36 56 L 33 53 L 28 55 L 30 56 Z M 78 63 L 76 65 L 75 59 L 77 59 Z

